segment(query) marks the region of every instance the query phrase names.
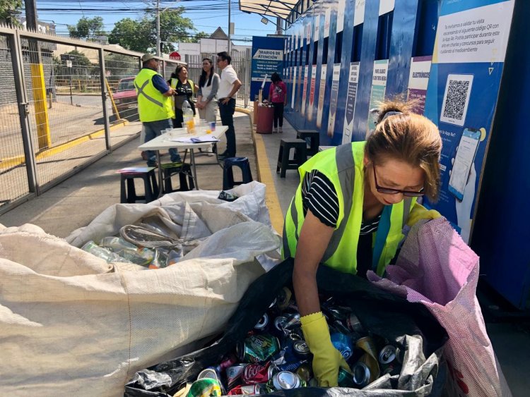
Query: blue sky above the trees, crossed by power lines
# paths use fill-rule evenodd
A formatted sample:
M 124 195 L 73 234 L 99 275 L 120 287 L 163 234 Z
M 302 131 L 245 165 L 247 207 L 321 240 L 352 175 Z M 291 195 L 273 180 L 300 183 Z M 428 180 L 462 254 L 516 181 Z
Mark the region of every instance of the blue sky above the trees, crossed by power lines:
M 212 33 L 220 26 L 228 33 L 228 0 L 160 0 L 162 10 L 175 6 L 186 9 L 184 16 L 193 21 L 197 31 Z M 101 16 L 105 31 L 110 32 L 118 20 L 139 19 L 143 16 L 142 10 L 154 7 L 154 0 L 37 0 L 37 16 L 42 22 L 55 23 L 57 35 L 68 35 L 66 25 L 75 25 L 83 16 Z M 232 41 L 235 44 L 252 45 L 249 41 L 252 36 L 266 36 L 276 31 L 274 23 L 261 23 L 261 16 L 258 14 L 240 11 L 239 1 L 232 0 L 231 7 L 230 20 L 235 23 Z

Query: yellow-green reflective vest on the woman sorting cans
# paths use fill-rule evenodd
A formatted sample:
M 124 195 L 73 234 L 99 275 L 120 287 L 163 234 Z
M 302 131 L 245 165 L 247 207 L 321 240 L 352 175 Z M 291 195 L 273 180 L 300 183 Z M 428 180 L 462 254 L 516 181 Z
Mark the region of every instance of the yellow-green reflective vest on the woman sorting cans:
M 300 181 L 312 169 L 324 173 L 333 183 L 338 197 L 338 220 L 321 262 L 344 273 L 357 273 L 357 246 L 363 221 L 365 142 L 352 142 L 324 150 L 302 164 Z M 384 207 L 372 243 L 372 270 L 379 276 L 396 255 L 404 238 L 402 230 L 416 203 L 416 197 Z M 418 209 L 423 208 L 416 204 Z M 420 208 L 419 208 L 420 207 Z M 290 203 L 283 226 L 283 257 L 295 257 L 298 237 L 304 224 L 302 183 Z

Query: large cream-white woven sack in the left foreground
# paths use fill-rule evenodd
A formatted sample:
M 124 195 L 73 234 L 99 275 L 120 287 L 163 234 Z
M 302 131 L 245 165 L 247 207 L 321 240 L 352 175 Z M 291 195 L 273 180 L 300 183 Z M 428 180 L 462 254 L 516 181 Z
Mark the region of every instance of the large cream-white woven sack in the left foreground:
M 193 342 L 221 331 L 263 273 L 254 256 L 279 240 L 247 221 L 202 244 L 203 254 L 237 245 L 237 255 L 139 270 L 107 264 L 37 226 L 1 229 L 2 394 L 122 396 L 139 369 L 199 348 Z

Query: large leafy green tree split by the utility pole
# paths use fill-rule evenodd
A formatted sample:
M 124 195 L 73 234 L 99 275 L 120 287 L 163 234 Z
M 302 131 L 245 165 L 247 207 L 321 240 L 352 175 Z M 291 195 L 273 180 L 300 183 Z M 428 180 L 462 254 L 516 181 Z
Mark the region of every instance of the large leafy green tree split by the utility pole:
M 175 51 L 175 42 L 189 42 L 189 32 L 194 32 L 191 19 L 182 16 L 184 7 L 170 8 L 160 13 L 160 42 L 162 52 Z M 206 35 L 201 32 L 201 35 Z M 140 20 L 124 18 L 114 24 L 109 36 L 110 44 L 126 49 L 146 52 L 156 48 L 156 14 L 148 11 Z

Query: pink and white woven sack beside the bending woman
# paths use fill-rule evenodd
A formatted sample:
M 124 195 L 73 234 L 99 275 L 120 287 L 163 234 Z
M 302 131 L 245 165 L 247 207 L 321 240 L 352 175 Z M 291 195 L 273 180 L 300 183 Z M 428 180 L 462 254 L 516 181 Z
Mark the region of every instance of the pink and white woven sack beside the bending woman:
M 387 279 L 367 278 L 384 290 L 425 305 L 449 334 L 444 357 L 450 396 L 512 396 L 486 333 L 476 299 L 478 256 L 444 218 L 408 233 Z

